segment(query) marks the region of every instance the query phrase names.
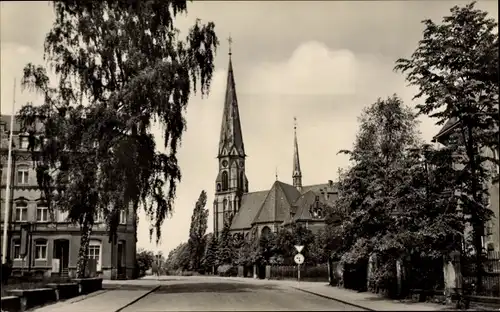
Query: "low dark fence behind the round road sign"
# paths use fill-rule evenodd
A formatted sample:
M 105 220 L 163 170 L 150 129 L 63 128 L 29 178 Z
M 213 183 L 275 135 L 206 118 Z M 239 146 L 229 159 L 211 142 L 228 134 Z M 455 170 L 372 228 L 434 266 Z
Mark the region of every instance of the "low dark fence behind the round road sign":
M 286 280 L 298 278 L 297 266 L 271 266 L 271 279 Z M 327 282 L 328 283 L 328 265 L 320 264 L 315 266 L 301 265 L 300 280 L 308 282 Z

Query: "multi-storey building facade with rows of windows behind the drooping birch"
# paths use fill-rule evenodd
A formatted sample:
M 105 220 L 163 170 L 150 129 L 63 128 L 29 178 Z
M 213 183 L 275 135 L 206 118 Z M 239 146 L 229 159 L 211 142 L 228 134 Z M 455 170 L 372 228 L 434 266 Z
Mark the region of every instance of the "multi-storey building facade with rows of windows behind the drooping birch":
M 1 133 L 1 223 L 2 234 L 6 209 L 6 185 L 11 181 L 8 220 L 7 258 L 13 262 L 13 273 L 32 271 L 50 276 L 76 276 L 80 248 L 80 226 L 67 220 L 68 213 L 56 208 L 49 211 L 38 188 L 35 164 L 28 148 L 27 135 L 14 123 L 12 141 L 12 175 L 7 176 L 8 144 L 11 116 L 3 115 Z M 30 228 L 27 241 L 21 232 Z M 103 278 L 134 278 L 136 265 L 136 222 L 133 209 L 123 210 L 116 243 L 110 243 L 102 216 L 96 216 L 89 259 L 94 259 L 97 273 Z M 3 237 L 2 237 L 3 243 Z M 25 255 L 24 255 L 25 254 Z

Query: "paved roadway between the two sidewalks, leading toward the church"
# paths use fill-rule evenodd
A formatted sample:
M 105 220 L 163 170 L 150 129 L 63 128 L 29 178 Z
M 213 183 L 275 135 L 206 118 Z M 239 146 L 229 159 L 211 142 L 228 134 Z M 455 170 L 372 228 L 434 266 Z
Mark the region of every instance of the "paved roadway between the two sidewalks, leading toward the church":
M 141 287 L 147 282 L 159 287 L 155 287 L 154 291 L 122 309 L 122 312 L 360 311 L 335 300 L 293 289 L 290 284 L 271 281 L 253 279 L 241 281 L 218 277 L 162 277 L 160 281 L 142 280 Z M 128 284 L 127 289 L 130 288 L 133 286 Z

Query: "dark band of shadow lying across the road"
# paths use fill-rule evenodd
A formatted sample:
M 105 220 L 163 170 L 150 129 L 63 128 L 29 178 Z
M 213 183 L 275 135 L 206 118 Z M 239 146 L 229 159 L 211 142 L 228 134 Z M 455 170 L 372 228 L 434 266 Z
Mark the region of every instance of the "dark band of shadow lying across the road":
M 180 293 L 241 293 L 255 290 L 273 290 L 272 285 L 252 285 L 243 283 L 185 283 L 162 285 L 155 291 L 158 294 Z

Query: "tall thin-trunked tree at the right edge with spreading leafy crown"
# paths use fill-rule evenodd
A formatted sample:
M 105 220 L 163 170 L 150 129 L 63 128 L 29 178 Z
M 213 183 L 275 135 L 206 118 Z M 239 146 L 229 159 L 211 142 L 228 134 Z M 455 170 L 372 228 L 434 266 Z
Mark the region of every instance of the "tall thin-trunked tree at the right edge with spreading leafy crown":
M 464 213 L 470 215 L 476 254 L 477 287 L 482 286 L 482 236 L 491 217 L 487 188 L 492 179 L 485 148 L 498 154 L 498 24 L 487 12 L 454 6 L 441 24 L 424 20 L 423 39 L 409 59 L 399 59 L 395 69 L 406 74 L 419 88 L 415 98 L 419 113 L 437 119 L 437 124 L 455 122 L 448 142 L 461 165 L 457 184 Z M 498 181 L 498 175 L 494 177 Z

